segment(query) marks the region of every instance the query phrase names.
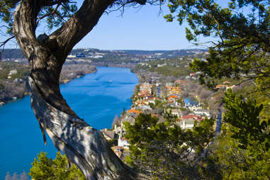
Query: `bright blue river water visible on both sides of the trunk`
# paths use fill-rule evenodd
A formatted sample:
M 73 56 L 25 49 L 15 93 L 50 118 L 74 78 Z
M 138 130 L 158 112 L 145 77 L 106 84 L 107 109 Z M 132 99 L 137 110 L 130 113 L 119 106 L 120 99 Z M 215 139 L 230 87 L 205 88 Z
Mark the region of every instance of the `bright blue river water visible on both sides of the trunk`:
M 60 89 L 80 118 L 101 129 L 111 128 L 114 116 L 130 108 L 137 83 L 130 69 L 98 67 L 96 73 L 74 79 Z M 39 152 L 54 158 L 57 150 L 49 139 L 45 146 L 29 96 L 0 106 L 0 180 L 5 179 L 7 171 L 11 175 L 28 172 Z

